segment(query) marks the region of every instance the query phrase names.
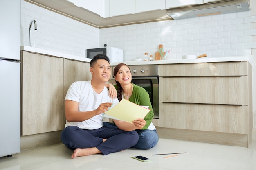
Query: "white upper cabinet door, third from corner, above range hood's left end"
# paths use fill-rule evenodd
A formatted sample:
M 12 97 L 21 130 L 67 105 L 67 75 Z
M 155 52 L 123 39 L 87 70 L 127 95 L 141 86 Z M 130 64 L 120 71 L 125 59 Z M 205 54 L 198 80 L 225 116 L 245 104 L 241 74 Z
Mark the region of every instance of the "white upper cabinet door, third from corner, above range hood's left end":
M 166 0 L 166 9 L 203 4 L 203 0 Z

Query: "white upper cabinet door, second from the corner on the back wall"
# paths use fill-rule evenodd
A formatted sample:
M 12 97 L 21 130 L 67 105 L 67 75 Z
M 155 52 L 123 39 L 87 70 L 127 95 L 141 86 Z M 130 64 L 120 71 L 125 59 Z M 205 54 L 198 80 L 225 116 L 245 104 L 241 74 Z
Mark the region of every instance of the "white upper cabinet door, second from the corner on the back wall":
M 165 0 L 136 0 L 136 13 L 165 9 Z

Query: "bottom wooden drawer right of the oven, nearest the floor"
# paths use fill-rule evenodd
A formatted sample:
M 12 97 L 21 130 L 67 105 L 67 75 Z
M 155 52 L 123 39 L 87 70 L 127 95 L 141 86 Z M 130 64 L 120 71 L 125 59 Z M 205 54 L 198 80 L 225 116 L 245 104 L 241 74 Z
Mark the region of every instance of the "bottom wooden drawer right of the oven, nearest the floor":
M 159 103 L 159 127 L 249 133 L 248 106 Z

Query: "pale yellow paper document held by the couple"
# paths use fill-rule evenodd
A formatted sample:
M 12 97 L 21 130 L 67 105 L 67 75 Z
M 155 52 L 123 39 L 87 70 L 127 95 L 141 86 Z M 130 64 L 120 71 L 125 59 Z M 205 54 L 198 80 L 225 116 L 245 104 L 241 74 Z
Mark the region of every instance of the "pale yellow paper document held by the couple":
M 129 123 L 136 120 L 137 118 L 143 119 L 150 109 L 137 105 L 128 100 L 122 99 L 117 105 L 114 107 L 110 107 L 108 111 L 104 113 L 104 117 L 123 120 Z

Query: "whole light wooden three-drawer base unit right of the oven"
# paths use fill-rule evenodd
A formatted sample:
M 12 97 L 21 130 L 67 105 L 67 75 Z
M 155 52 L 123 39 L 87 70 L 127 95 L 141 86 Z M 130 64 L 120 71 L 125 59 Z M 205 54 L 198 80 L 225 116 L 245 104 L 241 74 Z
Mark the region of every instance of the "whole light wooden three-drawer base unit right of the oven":
M 158 133 L 248 147 L 251 92 L 247 61 L 159 65 L 159 127 L 164 129 Z

